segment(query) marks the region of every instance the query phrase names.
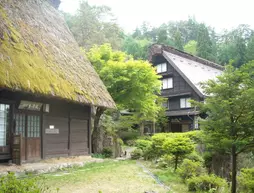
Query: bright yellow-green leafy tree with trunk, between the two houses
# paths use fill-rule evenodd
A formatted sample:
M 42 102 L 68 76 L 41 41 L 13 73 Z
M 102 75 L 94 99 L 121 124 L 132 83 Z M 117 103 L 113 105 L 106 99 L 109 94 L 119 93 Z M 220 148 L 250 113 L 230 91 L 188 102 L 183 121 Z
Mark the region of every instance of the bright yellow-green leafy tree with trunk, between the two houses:
M 109 44 L 94 46 L 87 56 L 119 109 L 138 113 L 140 121 L 156 118 L 161 109 L 157 104 L 161 82 L 151 64 L 113 51 Z M 102 149 L 99 121 L 104 111 L 97 107 L 92 135 L 95 152 Z

